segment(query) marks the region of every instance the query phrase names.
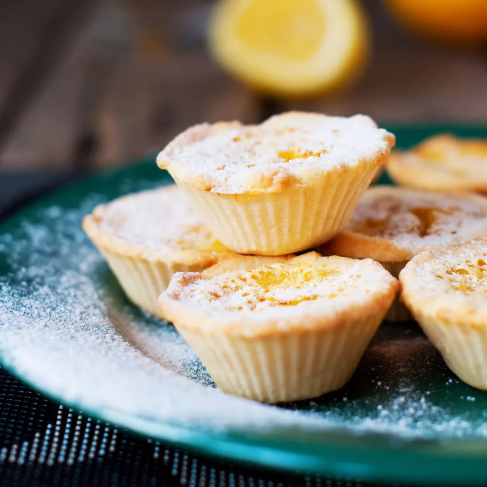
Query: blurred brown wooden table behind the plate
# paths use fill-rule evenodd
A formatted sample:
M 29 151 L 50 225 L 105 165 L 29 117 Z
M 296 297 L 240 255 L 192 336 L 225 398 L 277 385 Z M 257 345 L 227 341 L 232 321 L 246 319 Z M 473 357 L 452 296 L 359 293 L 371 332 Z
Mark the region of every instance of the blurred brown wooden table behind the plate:
M 123 164 L 193 123 L 291 108 L 487 122 L 485 54 L 416 40 L 378 0 L 364 3 L 375 49 L 361 81 L 333 97 L 276 102 L 207 56 L 210 1 L 0 0 L 0 171 Z

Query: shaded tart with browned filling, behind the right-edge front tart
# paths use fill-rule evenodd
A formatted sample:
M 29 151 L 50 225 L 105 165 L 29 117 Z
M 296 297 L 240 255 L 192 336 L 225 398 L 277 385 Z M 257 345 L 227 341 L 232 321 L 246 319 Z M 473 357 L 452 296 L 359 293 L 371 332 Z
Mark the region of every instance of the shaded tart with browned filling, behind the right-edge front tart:
M 487 198 L 468 193 L 435 193 L 404 187 L 368 189 L 344 231 L 318 248 L 380 262 L 394 277 L 424 250 L 487 236 Z M 397 300 L 386 319 L 411 319 Z

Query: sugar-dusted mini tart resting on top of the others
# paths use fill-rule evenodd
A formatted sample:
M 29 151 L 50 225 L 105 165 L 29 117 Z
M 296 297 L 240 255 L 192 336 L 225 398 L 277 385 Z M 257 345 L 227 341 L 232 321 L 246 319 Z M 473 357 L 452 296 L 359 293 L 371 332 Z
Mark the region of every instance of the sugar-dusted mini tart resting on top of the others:
M 281 255 L 322 244 L 346 225 L 394 141 L 364 115 L 288 112 L 261 125 L 196 125 L 157 164 L 226 246 Z

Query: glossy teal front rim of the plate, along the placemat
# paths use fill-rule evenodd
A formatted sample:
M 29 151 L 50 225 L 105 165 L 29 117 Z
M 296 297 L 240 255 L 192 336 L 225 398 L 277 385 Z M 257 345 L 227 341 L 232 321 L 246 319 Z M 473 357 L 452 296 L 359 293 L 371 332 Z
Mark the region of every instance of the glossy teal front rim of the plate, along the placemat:
M 0 228 L 1 229 L 1 228 Z M 16 369 L 0 354 L 0 366 L 17 377 L 35 391 L 44 394 L 49 400 L 63 404 L 92 419 L 109 422 L 113 427 L 129 431 L 141 438 L 162 440 L 170 446 L 180 447 L 195 454 L 203 454 L 220 460 L 249 463 L 264 469 L 279 469 L 288 473 L 336 477 L 357 482 L 398 482 L 432 485 L 439 482 L 455 485 L 483 485 L 487 477 L 485 455 L 475 457 L 453 457 L 428 454 L 424 449 L 412 451 L 407 445 L 417 444 L 414 440 L 397 438 L 392 448 L 370 448 L 363 446 L 337 447 L 334 444 L 321 445 L 316 451 L 296 451 L 280 447 L 250 442 L 245 436 L 233 440 L 231 435 L 212 434 L 204 430 L 194 430 L 180 425 L 148 420 L 146 418 L 101 408 L 83 406 L 81 400 L 65 400 L 62 395 L 53 393 L 47 387 L 39 386 L 25 374 Z M 322 437 L 330 436 L 322 432 Z M 350 434 L 364 443 L 375 437 L 370 432 Z M 230 439 L 229 439 L 230 438 Z M 257 437 L 256 437 L 257 438 Z M 258 437 L 260 438 L 260 437 Z M 443 445 L 448 443 L 445 442 Z M 458 441 L 457 443 L 460 443 Z M 487 448 L 487 442 L 486 448 Z M 427 444 L 427 442 L 426 442 Z M 441 445 L 435 442 L 435 446 Z M 426 455 L 425 455 L 426 453 Z M 414 462 L 411 469 L 409 460 Z M 419 468 L 418 468 L 419 465 Z M 467 481 L 467 483 L 466 483 Z

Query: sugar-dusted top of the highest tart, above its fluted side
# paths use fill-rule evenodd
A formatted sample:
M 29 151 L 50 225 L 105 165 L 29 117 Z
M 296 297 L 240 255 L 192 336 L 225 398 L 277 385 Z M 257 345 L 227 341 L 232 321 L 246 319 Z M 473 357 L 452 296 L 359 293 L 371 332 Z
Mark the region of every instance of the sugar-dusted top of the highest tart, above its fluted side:
M 190 127 L 158 155 L 157 164 L 177 182 L 214 193 L 277 192 L 364 161 L 378 168 L 394 142 L 365 115 L 287 112 L 260 125 Z

